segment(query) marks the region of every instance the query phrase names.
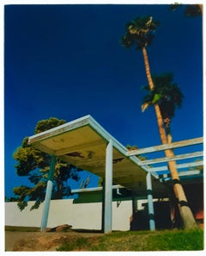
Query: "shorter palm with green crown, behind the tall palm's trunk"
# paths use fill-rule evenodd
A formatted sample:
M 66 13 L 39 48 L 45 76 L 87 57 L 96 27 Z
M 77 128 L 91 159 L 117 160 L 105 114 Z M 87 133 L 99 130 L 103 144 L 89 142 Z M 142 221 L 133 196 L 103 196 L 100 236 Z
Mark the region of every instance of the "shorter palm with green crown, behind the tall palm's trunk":
M 175 109 L 180 108 L 183 101 L 183 93 L 178 84 L 173 83 L 173 73 L 163 73 L 159 76 L 153 76 L 154 89 L 151 91 L 147 86 L 142 89 L 148 91 L 143 98 L 142 111 L 154 104 L 159 104 L 161 116 L 166 128 L 167 142 L 172 142 L 170 123 L 175 114 Z

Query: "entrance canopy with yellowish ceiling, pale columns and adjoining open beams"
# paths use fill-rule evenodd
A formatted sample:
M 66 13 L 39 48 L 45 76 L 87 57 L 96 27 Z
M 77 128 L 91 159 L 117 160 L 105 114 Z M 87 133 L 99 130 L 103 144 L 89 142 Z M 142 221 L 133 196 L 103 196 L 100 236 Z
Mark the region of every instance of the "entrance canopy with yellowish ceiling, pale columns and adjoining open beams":
M 45 132 L 30 136 L 28 143 L 40 151 L 51 155 L 50 172 L 54 172 L 54 158 L 58 158 L 63 159 L 71 165 L 80 167 L 82 170 L 105 178 L 105 232 L 109 232 L 112 229 L 112 184 L 119 184 L 128 190 L 132 190 L 137 196 L 145 196 L 147 195 L 147 190 L 151 189 L 153 190 L 154 197 L 164 197 L 167 195 L 165 183 L 161 182 L 160 176 L 157 175 L 157 172 L 154 172 L 155 168 L 152 168 L 150 165 L 153 162 L 151 160 L 142 161 L 136 157 L 136 154 L 140 154 L 141 150 L 128 151 L 126 147 L 102 128 L 92 116 L 83 116 L 72 122 L 67 122 L 56 128 L 51 128 Z M 201 143 L 203 143 L 203 138 L 197 138 L 194 140 L 185 140 L 185 144 L 176 143 L 175 145 L 173 143 L 173 146 L 170 145 L 167 147 L 185 147 Z M 166 146 L 148 147 L 148 152 L 164 150 L 164 147 Z M 145 153 L 145 150 L 142 153 Z M 199 156 L 203 156 L 203 153 L 184 154 L 182 159 Z M 176 157 L 177 159 L 181 159 L 181 156 Z M 160 162 L 167 162 L 168 160 L 172 159 L 159 159 Z M 157 159 L 155 162 L 157 162 Z M 197 165 L 203 165 L 203 161 L 179 165 L 179 168 Z M 157 169 L 155 170 L 157 171 Z M 167 166 L 159 167 L 159 170 L 166 171 Z M 200 172 L 196 172 L 195 174 L 192 172 L 191 175 L 192 177 L 195 175 L 195 178 L 202 178 L 202 173 Z M 47 223 L 51 190 L 52 173 L 49 174 L 46 189 L 42 229 L 45 229 Z M 152 198 L 150 199 L 152 200 Z

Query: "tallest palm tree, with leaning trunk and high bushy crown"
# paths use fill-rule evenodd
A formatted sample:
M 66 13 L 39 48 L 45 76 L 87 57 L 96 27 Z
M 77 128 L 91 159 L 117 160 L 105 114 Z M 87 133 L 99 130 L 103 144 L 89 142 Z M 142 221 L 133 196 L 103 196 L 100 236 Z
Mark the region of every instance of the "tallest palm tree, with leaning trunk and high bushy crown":
M 125 34 L 121 39 L 122 46 L 129 48 L 136 44 L 136 50 L 142 50 L 145 72 L 148 79 L 148 88 L 150 91 L 154 91 L 154 82 L 151 76 L 148 53 L 146 47 L 148 47 L 154 39 L 154 31 L 158 27 L 159 22 L 155 22 L 152 16 L 136 17 L 132 22 L 128 22 L 125 25 Z M 159 133 L 161 136 L 161 143 L 167 144 L 167 134 L 164 128 L 163 117 L 161 114 L 161 107 L 158 103 L 154 103 L 155 114 L 157 118 L 157 124 Z M 167 157 L 173 157 L 173 150 L 166 150 Z M 179 173 L 176 168 L 176 162 L 168 162 L 171 177 L 173 178 L 173 190 L 175 197 L 179 203 L 179 213 L 183 221 L 184 228 L 197 228 L 197 223 L 192 215 L 191 209 L 188 206 L 187 199 L 185 197 L 185 191 L 179 180 Z

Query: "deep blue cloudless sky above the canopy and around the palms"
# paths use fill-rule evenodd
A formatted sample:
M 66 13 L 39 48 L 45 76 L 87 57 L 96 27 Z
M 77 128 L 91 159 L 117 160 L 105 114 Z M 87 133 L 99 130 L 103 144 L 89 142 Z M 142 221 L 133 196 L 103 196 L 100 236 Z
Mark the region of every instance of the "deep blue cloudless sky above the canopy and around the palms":
M 172 122 L 173 141 L 203 136 L 201 17 L 159 4 L 6 5 L 4 16 L 7 197 L 27 180 L 15 174 L 12 154 L 39 120 L 91 115 L 125 146 L 161 144 L 154 109 L 141 112 L 142 52 L 119 43 L 124 24 L 136 16 L 161 22 L 148 47 L 151 72 L 173 72 L 185 95 Z

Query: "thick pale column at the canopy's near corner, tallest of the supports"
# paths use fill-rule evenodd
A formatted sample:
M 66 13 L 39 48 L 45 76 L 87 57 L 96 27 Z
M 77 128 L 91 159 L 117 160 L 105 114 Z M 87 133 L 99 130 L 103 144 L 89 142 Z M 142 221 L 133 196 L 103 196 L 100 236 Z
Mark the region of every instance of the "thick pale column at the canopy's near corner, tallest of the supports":
M 104 233 L 112 232 L 112 140 L 106 147 Z

